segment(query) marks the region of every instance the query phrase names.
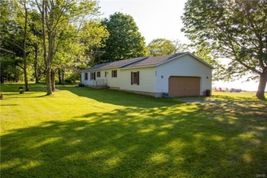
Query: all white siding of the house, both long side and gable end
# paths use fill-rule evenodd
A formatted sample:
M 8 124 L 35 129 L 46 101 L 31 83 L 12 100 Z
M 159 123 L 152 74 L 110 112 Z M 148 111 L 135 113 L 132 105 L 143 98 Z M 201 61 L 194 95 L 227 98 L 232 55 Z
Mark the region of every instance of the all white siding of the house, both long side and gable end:
M 112 77 L 112 71 L 117 70 L 117 77 Z M 101 71 L 101 77 L 97 77 L 97 71 Z M 131 85 L 131 72 L 140 72 L 139 85 Z M 117 88 L 119 90 L 129 90 L 137 92 L 156 93 L 155 96 L 160 97 L 163 92 L 168 92 L 168 78 L 170 76 L 188 76 L 200 77 L 200 95 L 205 90 L 212 89 L 212 68 L 199 62 L 190 55 L 184 55 L 170 62 L 161 64 L 160 66 L 141 67 L 141 68 L 109 68 L 96 72 L 96 79 L 105 79 L 107 86 Z M 105 77 L 105 72 L 107 76 Z M 81 73 L 81 83 L 86 86 L 95 86 L 96 81 L 90 80 L 90 72 L 88 72 L 88 80 L 84 78 L 84 72 Z

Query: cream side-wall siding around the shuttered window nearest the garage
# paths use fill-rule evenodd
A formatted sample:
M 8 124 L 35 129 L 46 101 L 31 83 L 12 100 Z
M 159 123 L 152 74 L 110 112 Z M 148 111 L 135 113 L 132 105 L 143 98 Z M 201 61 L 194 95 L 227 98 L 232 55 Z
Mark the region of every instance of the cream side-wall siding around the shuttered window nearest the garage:
M 131 72 L 139 71 L 139 85 L 131 85 Z M 155 92 L 155 67 L 120 69 L 120 90 Z

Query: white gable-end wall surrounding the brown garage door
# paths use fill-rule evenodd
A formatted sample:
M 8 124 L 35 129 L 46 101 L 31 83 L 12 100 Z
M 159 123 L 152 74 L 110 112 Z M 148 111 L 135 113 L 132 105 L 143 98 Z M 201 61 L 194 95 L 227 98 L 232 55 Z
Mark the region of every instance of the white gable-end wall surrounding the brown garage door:
M 156 71 L 156 92 L 168 92 L 170 76 L 201 77 L 200 95 L 203 95 L 205 90 L 212 89 L 212 68 L 190 55 L 184 55 L 177 60 L 157 66 Z

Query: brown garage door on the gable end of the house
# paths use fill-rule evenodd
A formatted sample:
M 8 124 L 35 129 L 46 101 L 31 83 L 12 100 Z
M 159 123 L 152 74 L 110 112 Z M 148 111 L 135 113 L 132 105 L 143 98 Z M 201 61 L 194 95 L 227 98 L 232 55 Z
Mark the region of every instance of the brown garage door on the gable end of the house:
M 179 96 L 199 96 L 199 77 L 175 77 L 168 78 L 168 95 L 170 97 Z

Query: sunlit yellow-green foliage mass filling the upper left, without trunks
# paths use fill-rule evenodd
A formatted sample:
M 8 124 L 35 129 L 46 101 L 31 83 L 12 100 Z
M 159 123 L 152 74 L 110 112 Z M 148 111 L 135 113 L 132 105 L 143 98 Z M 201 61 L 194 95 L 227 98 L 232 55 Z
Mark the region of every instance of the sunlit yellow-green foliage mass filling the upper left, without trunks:
M 44 60 L 43 29 L 40 21 L 42 2 L 48 7 L 47 18 L 51 20 L 45 21 L 47 24 L 44 25 L 47 33 L 44 38 L 47 46 L 46 54 L 48 56 L 50 51 L 51 61 Z M 94 58 L 94 49 L 103 47 L 103 42 L 108 36 L 107 29 L 99 21 L 92 20 L 93 16 L 99 14 L 98 2 L 0 0 L 1 82 L 24 81 L 21 77 L 21 69 L 24 68 L 22 63 L 24 3 L 28 12 L 26 57 L 29 80 L 35 80 L 36 83 L 44 81 L 47 65 L 55 71 L 61 71 L 62 80 L 64 80 L 63 75 L 65 78 L 77 80 L 81 69 L 86 68 L 88 62 Z M 50 37 L 48 31 L 51 31 Z M 50 49 L 48 49 L 49 44 Z

